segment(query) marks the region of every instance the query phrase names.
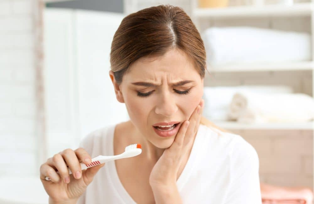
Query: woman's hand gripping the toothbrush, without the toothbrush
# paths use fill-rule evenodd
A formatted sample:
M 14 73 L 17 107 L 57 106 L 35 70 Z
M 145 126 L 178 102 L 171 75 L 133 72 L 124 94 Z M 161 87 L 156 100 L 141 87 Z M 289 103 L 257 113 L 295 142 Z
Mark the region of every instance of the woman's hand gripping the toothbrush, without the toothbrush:
M 85 160 L 87 159 L 87 160 Z M 105 164 L 81 170 L 80 161 L 85 165 L 91 163 L 91 157 L 83 148 L 65 149 L 49 158 L 40 167 L 40 179 L 53 203 L 76 201 L 93 181 L 98 170 Z M 69 174 L 68 167 L 73 172 Z M 56 172 L 59 171 L 59 174 Z M 78 175 L 76 172 L 79 172 Z M 51 180 L 46 180 L 48 176 Z

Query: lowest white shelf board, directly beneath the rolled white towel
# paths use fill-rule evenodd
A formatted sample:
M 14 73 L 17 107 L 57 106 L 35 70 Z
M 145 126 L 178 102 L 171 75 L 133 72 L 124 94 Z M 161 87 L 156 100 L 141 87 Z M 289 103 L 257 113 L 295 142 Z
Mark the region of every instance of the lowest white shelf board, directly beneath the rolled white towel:
M 313 130 L 314 122 L 307 123 L 253 123 L 244 124 L 232 121 L 212 121 L 215 125 L 224 129 L 303 129 Z

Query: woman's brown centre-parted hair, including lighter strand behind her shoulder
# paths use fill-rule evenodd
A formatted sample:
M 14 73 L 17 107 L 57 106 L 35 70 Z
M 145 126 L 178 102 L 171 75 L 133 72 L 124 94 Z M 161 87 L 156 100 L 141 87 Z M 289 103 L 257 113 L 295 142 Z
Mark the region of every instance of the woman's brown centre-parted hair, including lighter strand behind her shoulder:
M 116 82 L 122 82 L 124 73 L 139 58 L 162 56 L 174 48 L 184 51 L 204 78 L 204 43 L 182 8 L 159 5 L 127 15 L 116 30 L 111 44 L 110 64 Z M 203 118 L 201 123 L 218 128 L 208 120 L 204 123 L 205 120 Z

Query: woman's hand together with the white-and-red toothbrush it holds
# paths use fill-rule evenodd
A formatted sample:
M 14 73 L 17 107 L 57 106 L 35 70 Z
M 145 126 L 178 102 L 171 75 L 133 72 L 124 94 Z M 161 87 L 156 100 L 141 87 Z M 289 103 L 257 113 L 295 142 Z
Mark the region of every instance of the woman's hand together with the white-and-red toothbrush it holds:
M 122 154 L 99 155 L 93 159 L 83 148 L 65 149 L 55 154 L 40 167 L 40 178 L 49 195 L 49 203 L 76 203 L 105 162 L 133 157 L 141 153 L 140 144 L 131 144 Z

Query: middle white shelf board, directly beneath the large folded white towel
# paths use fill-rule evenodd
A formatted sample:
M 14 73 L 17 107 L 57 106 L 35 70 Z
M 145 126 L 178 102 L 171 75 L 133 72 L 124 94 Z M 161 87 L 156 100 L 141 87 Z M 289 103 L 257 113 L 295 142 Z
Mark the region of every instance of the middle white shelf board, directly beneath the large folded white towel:
M 300 71 L 314 70 L 313 61 L 302 62 L 270 62 L 270 63 L 228 63 L 212 66 L 208 64 L 209 72 L 241 72 L 241 71 Z

